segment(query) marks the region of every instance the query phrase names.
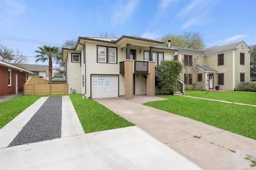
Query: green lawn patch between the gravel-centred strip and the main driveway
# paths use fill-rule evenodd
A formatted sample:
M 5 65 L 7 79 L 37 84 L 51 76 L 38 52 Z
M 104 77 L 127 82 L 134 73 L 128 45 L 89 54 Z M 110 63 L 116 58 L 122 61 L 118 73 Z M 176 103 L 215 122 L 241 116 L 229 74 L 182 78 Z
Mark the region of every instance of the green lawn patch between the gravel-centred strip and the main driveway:
M 82 99 L 81 95 L 69 96 L 85 133 L 134 126 L 133 123 L 110 111 L 92 99 Z

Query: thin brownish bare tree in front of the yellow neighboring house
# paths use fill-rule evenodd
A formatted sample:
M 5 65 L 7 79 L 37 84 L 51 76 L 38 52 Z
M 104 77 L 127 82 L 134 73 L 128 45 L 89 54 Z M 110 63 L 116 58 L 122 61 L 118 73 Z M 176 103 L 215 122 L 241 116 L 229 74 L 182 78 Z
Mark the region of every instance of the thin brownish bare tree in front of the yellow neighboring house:
M 186 55 L 185 55 L 186 56 Z M 197 66 L 197 61 L 198 61 L 198 56 L 197 57 L 193 57 L 193 56 L 189 56 L 187 55 L 187 57 L 185 57 L 185 60 L 183 58 L 182 60 L 182 67 L 183 67 L 183 73 L 186 76 L 187 82 L 185 82 L 185 86 L 186 89 L 188 89 L 188 82 L 190 79 L 192 79 L 193 75 L 197 74 L 198 72 L 198 66 Z

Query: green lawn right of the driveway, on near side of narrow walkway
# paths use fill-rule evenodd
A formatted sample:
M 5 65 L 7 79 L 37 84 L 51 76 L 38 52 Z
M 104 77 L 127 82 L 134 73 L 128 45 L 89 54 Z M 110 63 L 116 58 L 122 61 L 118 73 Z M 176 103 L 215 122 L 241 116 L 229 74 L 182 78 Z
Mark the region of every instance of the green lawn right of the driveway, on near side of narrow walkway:
M 256 139 L 256 107 L 180 96 L 159 97 L 168 100 L 153 101 L 145 105 Z

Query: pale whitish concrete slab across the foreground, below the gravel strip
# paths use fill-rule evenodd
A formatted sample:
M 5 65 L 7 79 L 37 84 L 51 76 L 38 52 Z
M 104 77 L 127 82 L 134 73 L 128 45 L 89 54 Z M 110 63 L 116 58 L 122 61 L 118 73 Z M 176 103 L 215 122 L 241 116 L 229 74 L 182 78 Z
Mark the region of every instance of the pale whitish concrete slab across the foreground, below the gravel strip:
M 0 149 L 0 169 L 201 169 L 136 126 Z

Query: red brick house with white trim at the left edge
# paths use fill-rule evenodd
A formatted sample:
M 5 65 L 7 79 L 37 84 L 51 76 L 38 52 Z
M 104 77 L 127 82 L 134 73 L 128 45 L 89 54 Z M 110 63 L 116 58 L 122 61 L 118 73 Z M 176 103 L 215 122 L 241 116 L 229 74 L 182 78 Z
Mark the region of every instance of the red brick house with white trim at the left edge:
M 32 72 L 0 61 L 0 96 L 18 94 Z

